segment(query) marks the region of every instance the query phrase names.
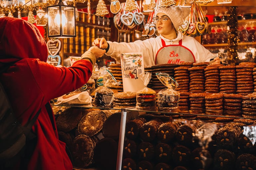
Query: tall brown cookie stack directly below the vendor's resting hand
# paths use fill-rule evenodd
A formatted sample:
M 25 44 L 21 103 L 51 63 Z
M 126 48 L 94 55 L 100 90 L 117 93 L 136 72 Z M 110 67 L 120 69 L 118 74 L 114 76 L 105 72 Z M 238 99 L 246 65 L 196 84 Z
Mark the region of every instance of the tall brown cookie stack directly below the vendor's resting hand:
M 207 66 L 204 69 L 204 92 L 219 92 L 219 67 L 215 65 Z

